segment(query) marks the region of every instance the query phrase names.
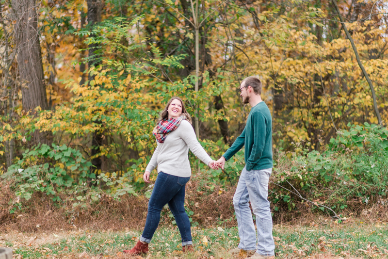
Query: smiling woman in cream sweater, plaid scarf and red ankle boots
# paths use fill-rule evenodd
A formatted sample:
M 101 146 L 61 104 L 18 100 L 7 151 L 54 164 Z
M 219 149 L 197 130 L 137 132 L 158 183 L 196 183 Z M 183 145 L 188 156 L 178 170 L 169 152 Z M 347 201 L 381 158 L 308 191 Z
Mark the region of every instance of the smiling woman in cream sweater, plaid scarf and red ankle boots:
M 189 148 L 211 168 L 215 166 L 215 161 L 198 143 L 191 122 L 179 97 L 172 97 L 160 113 L 157 126 L 152 131 L 157 147 L 143 176 L 144 181 L 149 183 L 150 172 L 158 166 L 158 177 L 148 202 L 146 226 L 140 241 L 131 250 L 124 250 L 124 253 L 138 255 L 148 252 L 148 243 L 159 225 L 161 210 L 166 204 L 177 222 L 183 252 L 193 251 L 190 221 L 184 208 L 185 186 L 191 176 Z

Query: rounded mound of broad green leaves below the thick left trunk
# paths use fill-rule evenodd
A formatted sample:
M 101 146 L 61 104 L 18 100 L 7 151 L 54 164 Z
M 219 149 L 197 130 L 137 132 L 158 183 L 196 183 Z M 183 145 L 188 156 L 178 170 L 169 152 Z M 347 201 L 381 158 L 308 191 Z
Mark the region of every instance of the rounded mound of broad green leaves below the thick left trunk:
M 29 200 L 34 192 L 46 194 L 60 201 L 59 189 L 71 187 L 74 182 L 83 184 L 88 177 L 91 162 L 79 150 L 65 145 L 52 144 L 27 149 L 23 158 L 8 168 L 1 178 L 13 180 L 16 196 Z M 73 177 L 72 177 L 73 176 Z

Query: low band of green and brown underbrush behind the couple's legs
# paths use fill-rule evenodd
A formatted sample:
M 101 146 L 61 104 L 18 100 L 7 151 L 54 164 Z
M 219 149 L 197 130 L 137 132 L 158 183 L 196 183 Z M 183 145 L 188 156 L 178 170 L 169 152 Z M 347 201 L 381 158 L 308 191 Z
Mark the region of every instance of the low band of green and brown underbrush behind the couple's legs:
M 309 150 L 308 143 L 295 144 L 292 153 L 280 151 L 269 186 L 274 222 L 311 213 L 333 215 L 321 205 L 342 218 L 387 217 L 378 215 L 388 208 L 387 136 L 387 129 L 375 125 L 349 125 L 321 151 Z M 203 145 L 210 152 L 220 151 L 214 143 Z M 243 166 L 242 151 L 226 162 L 224 171 L 193 166 L 185 200 L 192 226 L 236 225 L 232 197 Z M 64 145 L 27 150 L 1 178 L 0 228 L 28 231 L 84 224 L 112 229 L 144 226 L 153 187 L 145 187 L 134 171 L 90 173 L 90 162 Z M 153 174 L 151 179 L 155 178 Z M 175 225 L 167 206 L 161 222 Z

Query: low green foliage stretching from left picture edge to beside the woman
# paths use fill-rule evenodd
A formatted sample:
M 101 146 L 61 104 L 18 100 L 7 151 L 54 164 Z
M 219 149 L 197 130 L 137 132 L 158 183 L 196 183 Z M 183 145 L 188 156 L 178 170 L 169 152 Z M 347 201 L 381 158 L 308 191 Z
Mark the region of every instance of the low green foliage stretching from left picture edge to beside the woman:
M 12 184 L 16 202 L 11 212 L 24 209 L 20 200 L 30 200 L 32 195 L 39 193 L 48 196 L 53 204 L 61 206 L 63 198 L 70 194 L 74 200 L 73 207 L 86 208 L 88 203 L 98 202 L 101 194 L 119 198 L 124 194 L 135 194 L 132 185 L 128 183 L 129 175 L 110 177 L 100 174 L 97 178 L 90 173 L 92 163 L 85 160 L 81 152 L 65 145 L 39 145 L 26 150 L 23 158 L 8 168 L 1 178 Z M 96 186 L 104 182 L 110 188 L 100 189 Z M 76 195 L 72 195 L 76 194 Z

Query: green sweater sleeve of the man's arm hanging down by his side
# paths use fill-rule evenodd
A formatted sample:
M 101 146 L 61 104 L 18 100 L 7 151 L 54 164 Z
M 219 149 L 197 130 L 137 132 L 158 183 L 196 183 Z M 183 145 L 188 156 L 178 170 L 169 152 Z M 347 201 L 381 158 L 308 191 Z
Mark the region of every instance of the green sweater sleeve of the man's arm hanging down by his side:
M 245 169 L 247 171 L 251 171 L 254 163 L 260 160 L 264 150 L 266 134 L 266 121 L 262 113 L 253 113 L 251 121 L 253 128 L 253 146 L 251 154 L 245 164 Z

